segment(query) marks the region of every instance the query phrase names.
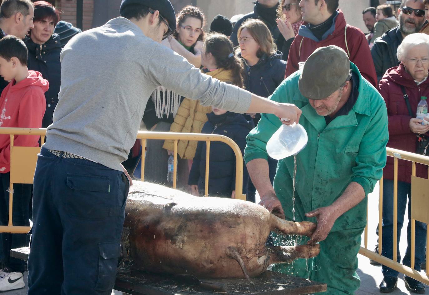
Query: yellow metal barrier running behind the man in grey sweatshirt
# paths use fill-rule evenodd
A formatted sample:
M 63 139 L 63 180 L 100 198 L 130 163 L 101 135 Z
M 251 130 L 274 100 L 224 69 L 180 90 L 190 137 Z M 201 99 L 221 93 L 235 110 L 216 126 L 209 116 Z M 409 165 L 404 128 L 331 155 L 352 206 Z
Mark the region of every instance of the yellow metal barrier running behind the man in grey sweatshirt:
M 20 147 L 19 152 L 21 154 L 18 155 L 18 150 L 15 152 L 15 149 L 18 147 L 14 147 L 13 140 L 15 135 L 39 135 L 41 138 L 42 144 L 45 142 L 45 128 L 10 128 L 10 127 L 0 127 L 0 134 L 9 134 L 10 142 L 11 142 L 11 172 L 15 165 L 15 158 L 19 158 L 19 155 L 23 155 L 26 151 L 30 151 L 35 148 L 32 147 Z M 206 159 L 205 159 L 205 196 L 208 195 L 208 171 L 209 171 L 209 161 L 210 161 L 210 143 L 211 141 L 221 141 L 225 144 L 228 144 L 234 151 L 236 155 L 236 194 L 235 199 L 246 199 L 246 195 L 243 195 L 243 155 L 240 151 L 239 146 L 233 141 L 231 138 L 224 135 L 217 134 L 198 134 L 198 133 L 176 133 L 176 132 L 150 132 L 150 131 L 139 131 L 137 135 L 138 139 L 142 141 L 142 178 L 144 181 L 145 175 L 145 161 L 144 161 L 144 151 L 146 147 L 146 140 L 155 139 L 155 140 L 173 140 L 174 141 L 174 169 L 173 169 L 173 188 L 176 188 L 176 176 L 177 176 L 177 143 L 179 140 L 190 140 L 190 141 L 205 141 L 206 142 Z M 36 148 L 40 151 L 40 148 Z M 37 151 L 37 152 L 38 152 Z M 36 153 L 37 154 L 37 153 Z M 32 156 L 36 156 L 32 155 Z M 12 157 L 12 155 L 14 157 Z M 27 159 L 24 159 L 24 161 Z M 12 163 L 13 162 L 13 163 Z M 34 162 L 35 163 L 35 162 Z M 20 166 L 22 167 L 22 165 Z M 27 168 L 28 167 L 27 165 Z M 34 168 L 34 169 L 33 169 Z M 34 175 L 35 165 L 31 167 L 32 173 Z M 28 173 L 27 173 L 28 174 Z M 11 173 L 12 175 L 12 173 Z M 33 183 L 32 178 L 27 182 L 15 182 L 15 183 Z M 9 221 L 7 226 L 0 226 L 1 232 L 10 232 L 10 233 L 27 233 L 30 231 L 30 226 L 13 226 L 12 223 L 12 206 L 13 206 L 13 182 L 12 176 L 10 181 L 10 193 L 9 193 Z

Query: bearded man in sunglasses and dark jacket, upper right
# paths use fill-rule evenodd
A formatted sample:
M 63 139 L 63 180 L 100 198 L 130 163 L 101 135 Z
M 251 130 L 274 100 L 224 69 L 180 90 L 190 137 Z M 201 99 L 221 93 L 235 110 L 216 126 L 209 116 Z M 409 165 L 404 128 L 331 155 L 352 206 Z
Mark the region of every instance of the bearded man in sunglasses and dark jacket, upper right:
M 402 0 L 398 9 L 399 26 L 388 30 L 380 38 L 375 39 L 371 49 L 377 80 L 383 78 L 387 69 L 399 66 L 396 51 L 402 39 L 412 33 L 418 33 L 425 22 L 423 0 Z

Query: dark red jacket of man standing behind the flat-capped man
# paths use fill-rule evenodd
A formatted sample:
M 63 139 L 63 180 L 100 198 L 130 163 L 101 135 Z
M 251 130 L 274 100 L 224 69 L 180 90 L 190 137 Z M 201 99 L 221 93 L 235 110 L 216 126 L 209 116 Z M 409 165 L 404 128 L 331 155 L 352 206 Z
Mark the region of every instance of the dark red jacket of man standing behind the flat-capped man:
M 348 52 L 350 61 L 353 62 L 360 73 L 374 87 L 377 87 L 377 74 L 375 73 L 374 62 L 372 61 L 371 51 L 369 50 L 368 41 L 362 31 L 353 26 L 347 26 L 345 33 L 346 20 L 340 9 L 337 10 L 338 15 L 335 18 L 334 32 L 326 39 L 316 42 L 310 38 L 296 35 L 290 46 L 289 57 L 287 58 L 285 78 L 289 77 L 293 72 L 299 69 L 298 63 L 305 61 L 319 47 L 337 45 Z M 307 25 L 308 23 L 303 23 Z M 347 46 L 346 37 L 347 36 Z M 348 54 L 348 53 L 347 53 Z

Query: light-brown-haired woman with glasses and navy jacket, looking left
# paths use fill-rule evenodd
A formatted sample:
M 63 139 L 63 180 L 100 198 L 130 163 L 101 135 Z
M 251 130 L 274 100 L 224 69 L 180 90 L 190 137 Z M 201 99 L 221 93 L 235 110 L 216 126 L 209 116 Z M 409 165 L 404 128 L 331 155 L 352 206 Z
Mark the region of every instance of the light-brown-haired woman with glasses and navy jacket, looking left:
M 250 19 L 239 27 L 237 36 L 237 54 L 245 63 L 245 88 L 263 97 L 270 96 L 284 80 L 286 62 L 281 59 L 282 54 L 277 51 L 268 27 L 263 21 Z M 256 125 L 260 114 L 252 115 Z M 272 182 L 277 161 L 269 158 L 268 164 Z M 255 192 L 253 184 L 249 182 L 248 201 L 255 202 Z

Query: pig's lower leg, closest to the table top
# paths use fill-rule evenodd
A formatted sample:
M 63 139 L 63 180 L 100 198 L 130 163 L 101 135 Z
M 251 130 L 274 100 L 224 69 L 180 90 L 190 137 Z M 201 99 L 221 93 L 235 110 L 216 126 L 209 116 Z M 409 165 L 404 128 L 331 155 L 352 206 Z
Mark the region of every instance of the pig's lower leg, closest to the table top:
M 313 258 L 320 252 L 320 245 L 272 246 L 269 263 L 290 262 L 297 258 Z

